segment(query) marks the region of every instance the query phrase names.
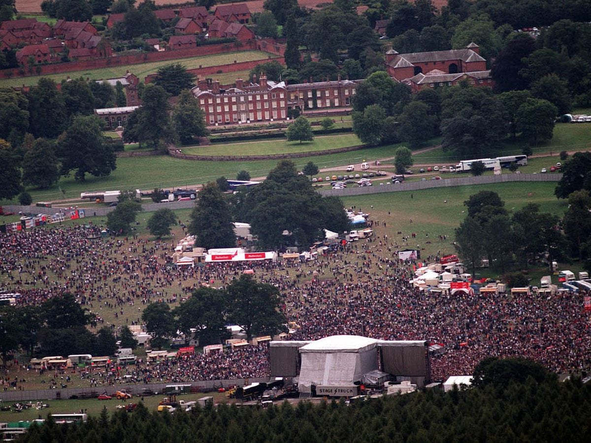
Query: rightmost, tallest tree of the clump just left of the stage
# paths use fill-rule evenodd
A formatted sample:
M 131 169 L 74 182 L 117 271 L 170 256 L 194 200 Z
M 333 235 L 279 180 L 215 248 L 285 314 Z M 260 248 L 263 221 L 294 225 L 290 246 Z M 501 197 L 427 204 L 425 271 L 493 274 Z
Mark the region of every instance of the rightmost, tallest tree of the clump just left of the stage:
M 244 329 L 248 340 L 285 330 L 285 316 L 280 312 L 281 296 L 275 286 L 242 274 L 228 285 L 226 292 L 228 319 Z

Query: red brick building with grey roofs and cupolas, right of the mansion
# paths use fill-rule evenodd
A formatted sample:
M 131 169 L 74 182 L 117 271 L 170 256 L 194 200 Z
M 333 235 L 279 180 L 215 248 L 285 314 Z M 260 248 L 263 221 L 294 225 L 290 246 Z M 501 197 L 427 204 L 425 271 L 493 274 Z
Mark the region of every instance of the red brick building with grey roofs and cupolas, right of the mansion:
M 480 56 L 480 48 L 470 43 L 463 49 L 399 54 L 394 49 L 386 53 L 388 74 L 407 83 L 413 91 L 423 87 L 452 86 L 469 79 L 477 86 L 491 86 L 491 71 Z

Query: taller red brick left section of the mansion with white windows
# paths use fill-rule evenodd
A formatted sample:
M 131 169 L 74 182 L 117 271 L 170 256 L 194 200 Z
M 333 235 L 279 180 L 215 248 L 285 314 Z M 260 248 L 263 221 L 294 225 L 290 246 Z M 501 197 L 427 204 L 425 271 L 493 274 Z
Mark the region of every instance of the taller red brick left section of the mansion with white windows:
M 219 82 L 208 84 L 199 80 L 192 90 L 205 113 L 207 125 L 228 125 L 250 122 L 272 122 L 287 118 L 287 89 L 285 83 L 267 82 L 262 76 L 245 84 L 236 80 L 236 86 L 220 89 Z

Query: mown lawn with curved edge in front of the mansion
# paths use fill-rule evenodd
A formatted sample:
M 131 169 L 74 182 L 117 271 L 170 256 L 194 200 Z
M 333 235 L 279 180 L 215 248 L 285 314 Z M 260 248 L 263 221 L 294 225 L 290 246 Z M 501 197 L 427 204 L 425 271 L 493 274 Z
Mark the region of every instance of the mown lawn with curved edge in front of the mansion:
M 355 134 L 316 136 L 311 142 L 288 142 L 287 139 L 253 141 L 233 144 L 216 144 L 183 148 L 184 154 L 191 155 L 265 155 L 291 154 L 293 152 L 314 152 L 324 149 L 345 148 L 361 145 Z M 252 175 L 252 174 L 251 174 Z

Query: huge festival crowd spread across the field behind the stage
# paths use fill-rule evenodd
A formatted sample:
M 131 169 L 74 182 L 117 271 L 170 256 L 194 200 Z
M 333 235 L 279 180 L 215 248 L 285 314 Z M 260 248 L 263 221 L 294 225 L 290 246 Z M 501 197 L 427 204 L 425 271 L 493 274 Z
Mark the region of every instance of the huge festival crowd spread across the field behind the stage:
M 156 300 L 176 304 L 195 288 L 227 284 L 248 268 L 256 279 L 279 289 L 281 308 L 295 331 L 288 340 L 353 334 L 438 343 L 444 351 L 431 359 L 433 380 L 470 374 L 489 356 L 527 357 L 557 372 L 589 370 L 591 323 L 583 310 L 585 294 L 511 297 L 422 291 L 409 284 L 412 266 L 398 260 L 405 242 L 398 245 L 385 229 L 374 229 L 374 237 L 336 246 L 309 262 L 194 268 L 166 265 L 174 246 L 170 240 L 97 239 L 92 226 L 31 229 L 0 236 L 0 288 L 20 292 L 18 304 L 40 304 L 71 292 L 95 314 L 100 315 L 99 309 L 115 312 L 113 324 L 138 324 L 145 305 Z M 128 306 L 134 306 L 134 316 Z M 142 361 L 121 370 L 83 371 L 80 376 L 103 385 L 268 374 L 266 346 L 250 346 L 160 363 Z

